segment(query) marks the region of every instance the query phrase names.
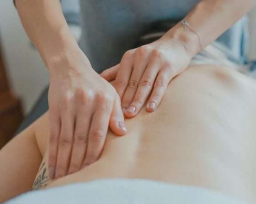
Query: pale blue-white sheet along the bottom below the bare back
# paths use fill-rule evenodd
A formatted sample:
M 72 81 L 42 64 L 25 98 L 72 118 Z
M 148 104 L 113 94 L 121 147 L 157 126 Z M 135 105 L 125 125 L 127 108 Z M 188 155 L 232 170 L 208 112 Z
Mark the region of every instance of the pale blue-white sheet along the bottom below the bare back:
M 33 191 L 6 204 L 245 204 L 204 188 L 142 179 L 102 179 Z

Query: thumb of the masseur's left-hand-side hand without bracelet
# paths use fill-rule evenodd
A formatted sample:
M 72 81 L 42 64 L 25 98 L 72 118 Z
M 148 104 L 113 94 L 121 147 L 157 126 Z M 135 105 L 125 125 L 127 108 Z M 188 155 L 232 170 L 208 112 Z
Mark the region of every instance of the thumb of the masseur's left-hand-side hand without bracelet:
M 123 136 L 127 133 L 127 129 L 124 124 L 120 97 L 118 94 L 116 94 L 116 99 L 115 99 L 113 110 L 109 120 L 109 127 L 118 136 Z

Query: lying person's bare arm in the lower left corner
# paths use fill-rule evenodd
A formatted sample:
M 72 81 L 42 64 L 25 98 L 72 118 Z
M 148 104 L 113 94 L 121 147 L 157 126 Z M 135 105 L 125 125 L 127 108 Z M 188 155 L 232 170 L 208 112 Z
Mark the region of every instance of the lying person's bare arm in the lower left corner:
M 31 190 L 42 161 L 34 125 L 15 136 L 0 150 L 0 203 Z

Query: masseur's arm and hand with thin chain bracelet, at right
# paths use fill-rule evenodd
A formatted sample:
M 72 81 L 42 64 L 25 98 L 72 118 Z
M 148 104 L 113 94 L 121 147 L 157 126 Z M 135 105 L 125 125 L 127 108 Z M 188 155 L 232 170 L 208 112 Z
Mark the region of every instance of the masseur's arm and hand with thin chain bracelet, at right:
M 101 73 L 115 80 L 125 116 L 136 116 L 149 94 L 146 109 L 155 111 L 171 79 L 255 4 L 255 0 L 202 0 L 185 17 L 193 31 L 178 23 L 159 40 L 129 50 L 120 64 Z

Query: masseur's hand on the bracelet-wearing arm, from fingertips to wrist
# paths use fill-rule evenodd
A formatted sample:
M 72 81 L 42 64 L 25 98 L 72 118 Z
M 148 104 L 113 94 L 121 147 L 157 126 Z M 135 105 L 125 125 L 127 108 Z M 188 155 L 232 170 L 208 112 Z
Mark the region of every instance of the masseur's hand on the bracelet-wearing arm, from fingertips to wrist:
M 167 85 L 185 70 L 192 55 L 184 44 L 170 37 L 127 51 L 121 63 L 101 73 L 113 86 L 122 100 L 126 117 L 134 117 L 144 106 L 153 112 L 159 106 Z

